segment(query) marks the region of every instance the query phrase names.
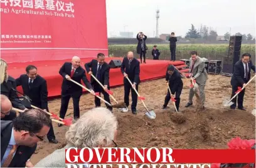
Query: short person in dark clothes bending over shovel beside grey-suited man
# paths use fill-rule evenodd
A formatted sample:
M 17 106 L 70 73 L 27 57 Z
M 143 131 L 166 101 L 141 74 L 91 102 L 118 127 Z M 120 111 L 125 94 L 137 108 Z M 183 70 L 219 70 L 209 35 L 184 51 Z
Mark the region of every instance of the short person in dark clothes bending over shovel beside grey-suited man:
M 183 81 L 181 79 L 181 74 L 179 74 L 179 72 L 175 69 L 173 65 L 168 66 L 167 68 L 166 82 L 169 84 L 169 87 L 171 89 L 171 94 L 168 89 L 167 95 L 164 100 L 164 106 L 162 108 L 165 109 L 171 97 L 175 97 L 174 98 L 176 100 L 175 105 L 176 105 L 177 111 L 179 111 L 179 102 L 180 102 L 181 91 L 183 89 Z

